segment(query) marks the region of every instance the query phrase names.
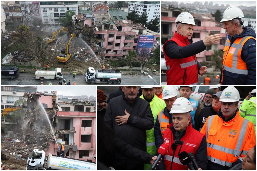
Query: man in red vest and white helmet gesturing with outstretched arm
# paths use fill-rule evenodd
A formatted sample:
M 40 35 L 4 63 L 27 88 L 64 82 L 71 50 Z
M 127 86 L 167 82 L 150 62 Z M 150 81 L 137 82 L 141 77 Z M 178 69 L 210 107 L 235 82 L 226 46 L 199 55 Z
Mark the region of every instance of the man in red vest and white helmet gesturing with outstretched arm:
M 196 60 L 196 54 L 206 50 L 206 46 L 217 43 L 220 34 L 209 36 L 210 30 L 204 40 L 192 43 L 194 18 L 190 13 L 183 12 L 178 15 L 175 23 L 177 31 L 174 36 L 163 45 L 166 61 L 167 85 L 197 85 L 198 74 L 203 76 L 207 70 Z

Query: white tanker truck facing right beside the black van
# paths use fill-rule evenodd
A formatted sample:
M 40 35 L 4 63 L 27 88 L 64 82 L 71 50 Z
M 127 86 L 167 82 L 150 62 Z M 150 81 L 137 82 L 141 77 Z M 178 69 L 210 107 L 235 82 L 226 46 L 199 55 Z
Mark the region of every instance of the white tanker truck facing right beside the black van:
M 40 80 L 60 80 L 63 78 L 61 68 L 37 68 L 35 72 L 35 79 Z

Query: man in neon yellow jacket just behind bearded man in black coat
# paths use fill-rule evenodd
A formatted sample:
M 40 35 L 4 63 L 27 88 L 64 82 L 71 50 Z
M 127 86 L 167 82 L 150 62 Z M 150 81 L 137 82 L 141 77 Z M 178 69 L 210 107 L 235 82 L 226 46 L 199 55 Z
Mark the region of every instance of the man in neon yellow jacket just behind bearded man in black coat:
M 154 86 L 141 86 L 141 88 L 142 95 L 140 98 L 150 103 L 150 108 L 152 110 L 155 123 L 158 113 L 166 107 L 166 104 L 162 99 L 154 94 Z M 156 152 L 154 128 L 146 131 L 146 152 L 151 155 L 154 155 Z M 150 170 L 150 167 L 150 164 L 144 164 L 144 170 Z

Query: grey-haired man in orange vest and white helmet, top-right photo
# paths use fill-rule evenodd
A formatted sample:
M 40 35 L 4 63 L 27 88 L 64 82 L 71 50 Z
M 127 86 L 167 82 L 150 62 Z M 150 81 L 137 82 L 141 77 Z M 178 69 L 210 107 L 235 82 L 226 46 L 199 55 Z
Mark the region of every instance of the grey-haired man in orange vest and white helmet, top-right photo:
M 250 27 L 242 27 L 244 17 L 238 7 L 228 7 L 222 16 L 226 40 L 220 85 L 256 84 L 256 34 Z

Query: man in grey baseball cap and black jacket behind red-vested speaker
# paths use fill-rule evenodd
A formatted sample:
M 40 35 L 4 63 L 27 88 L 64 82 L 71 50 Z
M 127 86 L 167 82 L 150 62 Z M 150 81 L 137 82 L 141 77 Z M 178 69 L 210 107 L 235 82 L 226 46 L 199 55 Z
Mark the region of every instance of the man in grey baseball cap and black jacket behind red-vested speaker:
M 195 129 L 201 131 L 206 119 L 211 115 L 216 115 L 219 109 L 221 108 L 220 95 L 222 91 L 219 91 L 216 94 L 213 94 L 212 106 L 204 107 L 198 118 L 195 120 Z

